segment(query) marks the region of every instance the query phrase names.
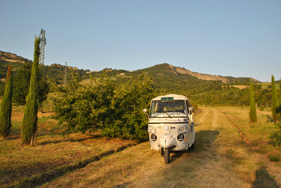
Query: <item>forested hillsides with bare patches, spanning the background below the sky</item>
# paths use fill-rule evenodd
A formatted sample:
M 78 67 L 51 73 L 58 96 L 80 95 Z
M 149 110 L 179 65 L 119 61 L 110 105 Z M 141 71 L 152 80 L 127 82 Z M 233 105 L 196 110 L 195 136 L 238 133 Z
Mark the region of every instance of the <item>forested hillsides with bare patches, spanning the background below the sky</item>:
M 12 63 L 13 74 L 24 63 L 31 60 L 19 57 L 9 52 L 0 51 L 0 95 L 3 95 L 5 79 L 7 75 L 7 67 Z M 71 81 L 69 68 L 67 68 L 66 82 Z M 57 84 L 63 83 L 65 66 L 60 64 L 52 64 L 43 67 L 43 73 L 50 80 Z M 249 105 L 249 87 L 239 89 L 232 87 L 233 85 L 249 86 L 250 82 L 254 83 L 255 100 L 259 106 L 271 106 L 271 90 L 263 89 L 258 80 L 248 77 L 222 77 L 212 76 L 191 72 L 185 68 L 173 67 L 167 63 L 155 65 L 152 67 L 129 72 L 126 70 L 116 70 L 105 68 L 99 72 L 90 72 L 90 70 L 77 69 L 74 72 L 81 79 L 88 79 L 91 76 L 98 78 L 102 72 L 106 72 L 113 83 L 118 86 L 125 83 L 130 77 L 138 77 L 141 73 L 145 73 L 154 77 L 153 87 L 163 90 L 165 93 L 185 95 L 195 104 L 206 104 L 214 106 L 243 106 Z M 278 88 L 279 89 L 279 88 Z

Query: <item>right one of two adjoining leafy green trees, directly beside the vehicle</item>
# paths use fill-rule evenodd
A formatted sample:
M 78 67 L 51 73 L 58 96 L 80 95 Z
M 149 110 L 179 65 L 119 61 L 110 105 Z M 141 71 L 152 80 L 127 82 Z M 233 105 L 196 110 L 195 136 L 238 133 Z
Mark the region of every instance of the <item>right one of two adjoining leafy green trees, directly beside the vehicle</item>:
M 116 88 L 111 109 L 111 124 L 103 129 L 104 136 L 121 137 L 135 141 L 147 139 L 147 116 L 142 109 L 149 108 L 150 100 L 160 95 L 152 87 L 152 77 L 141 74 Z

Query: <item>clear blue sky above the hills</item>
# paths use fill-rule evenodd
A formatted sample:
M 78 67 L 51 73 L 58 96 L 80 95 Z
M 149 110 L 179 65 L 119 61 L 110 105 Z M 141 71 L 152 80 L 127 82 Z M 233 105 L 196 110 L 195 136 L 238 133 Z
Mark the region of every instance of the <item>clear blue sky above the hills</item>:
M 0 0 L 0 17 L 0 50 L 30 60 L 46 31 L 45 65 L 281 77 L 280 0 Z

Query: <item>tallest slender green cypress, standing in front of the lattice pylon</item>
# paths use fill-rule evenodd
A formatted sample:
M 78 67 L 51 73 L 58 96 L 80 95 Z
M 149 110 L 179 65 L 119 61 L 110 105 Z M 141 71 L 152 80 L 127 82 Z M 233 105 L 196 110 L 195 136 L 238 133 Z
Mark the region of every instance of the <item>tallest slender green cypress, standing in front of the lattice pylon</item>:
M 34 59 L 31 70 L 29 92 L 26 98 L 26 106 L 22 119 L 22 143 L 28 144 L 34 138 L 37 128 L 37 111 L 38 111 L 38 72 L 39 72 L 39 55 L 40 55 L 40 38 L 35 36 L 34 41 Z

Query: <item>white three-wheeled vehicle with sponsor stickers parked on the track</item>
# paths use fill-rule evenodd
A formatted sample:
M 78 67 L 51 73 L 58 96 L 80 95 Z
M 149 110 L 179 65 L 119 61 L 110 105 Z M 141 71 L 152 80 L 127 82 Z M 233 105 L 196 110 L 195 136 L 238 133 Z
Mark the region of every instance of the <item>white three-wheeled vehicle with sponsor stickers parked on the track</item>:
M 182 95 L 158 96 L 151 100 L 149 115 L 146 114 L 150 147 L 160 151 L 165 164 L 170 163 L 170 151 L 194 149 L 192 111 L 189 99 Z

